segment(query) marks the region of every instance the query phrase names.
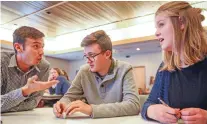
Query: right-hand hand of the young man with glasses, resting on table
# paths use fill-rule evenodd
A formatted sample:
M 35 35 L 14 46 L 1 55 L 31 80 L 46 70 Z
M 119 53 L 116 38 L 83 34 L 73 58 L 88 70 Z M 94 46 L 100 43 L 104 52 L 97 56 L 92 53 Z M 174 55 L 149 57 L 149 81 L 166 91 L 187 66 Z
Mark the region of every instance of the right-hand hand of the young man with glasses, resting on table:
M 71 102 L 66 107 L 64 112 L 66 113 L 66 115 L 71 115 L 75 112 L 82 112 L 90 116 L 92 114 L 92 107 L 91 105 L 88 105 L 81 100 L 77 100 L 77 101 Z

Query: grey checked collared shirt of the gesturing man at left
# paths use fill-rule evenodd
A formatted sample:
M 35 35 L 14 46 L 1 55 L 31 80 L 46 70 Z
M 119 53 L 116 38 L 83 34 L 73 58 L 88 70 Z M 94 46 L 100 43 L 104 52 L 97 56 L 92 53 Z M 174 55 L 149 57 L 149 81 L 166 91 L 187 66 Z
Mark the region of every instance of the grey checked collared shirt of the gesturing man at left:
M 24 97 L 21 88 L 27 83 L 27 79 L 34 75 L 41 81 L 47 81 L 49 69 L 49 63 L 42 59 L 28 72 L 23 72 L 17 66 L 14 52 L 1 52 L 1 113 L 35 108 L 43 91 Z

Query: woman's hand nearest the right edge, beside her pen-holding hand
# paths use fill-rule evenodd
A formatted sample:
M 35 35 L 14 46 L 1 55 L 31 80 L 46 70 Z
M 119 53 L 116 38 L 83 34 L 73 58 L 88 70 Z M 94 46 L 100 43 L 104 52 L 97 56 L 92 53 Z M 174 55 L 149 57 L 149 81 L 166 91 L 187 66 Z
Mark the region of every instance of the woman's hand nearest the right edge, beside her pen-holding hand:
M 181 110 L 181 118 L 186 124 L 207 124 L 207 111 L 200 108 Z

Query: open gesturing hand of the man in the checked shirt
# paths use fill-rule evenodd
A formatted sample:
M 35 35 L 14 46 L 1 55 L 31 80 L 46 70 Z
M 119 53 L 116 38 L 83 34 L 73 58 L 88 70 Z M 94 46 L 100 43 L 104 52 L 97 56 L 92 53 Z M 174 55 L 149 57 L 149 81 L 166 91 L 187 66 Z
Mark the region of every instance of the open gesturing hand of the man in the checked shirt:
M 27 80 L 27 84 L 24 87 L 22 87 L 23 96 L 28 96 L 29 94 L 36 92 L 36 91 L 45 90 L 59 82 L 57 80 L 42 82 L 42 81 L 37 81 L 37 79 L 38 77 L 37 75 L 35 75 Z

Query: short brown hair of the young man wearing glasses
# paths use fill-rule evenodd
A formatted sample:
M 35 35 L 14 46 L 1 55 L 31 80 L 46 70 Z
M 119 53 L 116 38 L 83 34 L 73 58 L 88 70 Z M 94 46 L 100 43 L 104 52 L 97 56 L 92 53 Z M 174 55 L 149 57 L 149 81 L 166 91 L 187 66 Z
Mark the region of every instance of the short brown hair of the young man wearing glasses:
M 109 36 L 103 31 L 98 30 L 96 32 L 87 35 L 81 42 L 81 47 L 89 46 L 91 44 L 99 44 L 102 51 L 112 51 L 112 43 Z

